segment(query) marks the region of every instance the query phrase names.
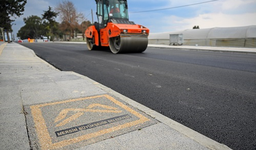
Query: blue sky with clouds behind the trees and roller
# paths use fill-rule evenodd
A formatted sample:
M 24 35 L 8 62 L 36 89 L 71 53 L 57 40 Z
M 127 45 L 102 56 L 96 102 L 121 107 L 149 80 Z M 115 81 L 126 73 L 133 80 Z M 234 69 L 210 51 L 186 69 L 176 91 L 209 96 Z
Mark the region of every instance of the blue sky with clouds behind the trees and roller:
M 94 0 L 70 0 L 78 12 L 82 12 L 92 21 L 91 9 L 96 18 L 96 3 Z M 169 10 L 132 13 L 145 10 L 170 8 L 209 0 L 128 0 L 129 18 L 136 24 L 150 29 L 150 32 L 172 32 L 200 28 L 236 27 L 256 25 L 256 0 L 218 0 L 200 5 L 175 8 Z M 27 0 L 25 11 L 17 18 L 12 26 L 16 36 L 18 30 L 24 26 L 23 18 L 31 15 L 41 16 L 48 6 L 54 8 L 62 0 Z M 56 21 L 59 21 L 58 19 Z

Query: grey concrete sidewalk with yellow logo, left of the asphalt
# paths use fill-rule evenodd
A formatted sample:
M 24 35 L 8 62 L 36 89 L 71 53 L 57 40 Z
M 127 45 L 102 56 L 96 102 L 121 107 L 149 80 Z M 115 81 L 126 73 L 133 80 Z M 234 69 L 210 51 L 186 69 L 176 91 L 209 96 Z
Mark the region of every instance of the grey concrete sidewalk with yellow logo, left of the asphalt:
M 3 150 L 230 150 L 20 44 L 0 44 Z

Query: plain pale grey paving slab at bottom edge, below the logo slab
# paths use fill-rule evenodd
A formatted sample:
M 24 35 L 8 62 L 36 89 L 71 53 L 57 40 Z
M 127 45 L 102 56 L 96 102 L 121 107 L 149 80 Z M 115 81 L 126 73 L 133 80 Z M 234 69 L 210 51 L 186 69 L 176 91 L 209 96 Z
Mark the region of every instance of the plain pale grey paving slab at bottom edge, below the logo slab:
M 170 136 L 172 135 L 172 136 Z M 171 147 L 170 147 L 171 146 Z M 76 150 L 210 150 L 179 134 L 169 126 L 158 123 L 116 138 Z

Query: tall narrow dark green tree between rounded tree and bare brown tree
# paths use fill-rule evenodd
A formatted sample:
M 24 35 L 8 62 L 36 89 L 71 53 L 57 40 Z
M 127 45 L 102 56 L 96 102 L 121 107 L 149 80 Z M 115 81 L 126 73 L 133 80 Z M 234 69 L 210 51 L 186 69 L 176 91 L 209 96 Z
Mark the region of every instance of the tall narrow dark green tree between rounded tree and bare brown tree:
M 52 8 L 49 6 L 49 9 L 47 11 L 44 11 L 44 14 L 42 14 L 42 18 L 47 20 L 48 22 L 44 22 L 46 26 L 48 26 L 50 30 L 50 36 L 51 40 L 53 41 L 54 36 L 54 28 L 56 28 L 58 25 L 58 22 L 55 21 L 55 18 L 58 16 L 57 12 L 52 11 Z

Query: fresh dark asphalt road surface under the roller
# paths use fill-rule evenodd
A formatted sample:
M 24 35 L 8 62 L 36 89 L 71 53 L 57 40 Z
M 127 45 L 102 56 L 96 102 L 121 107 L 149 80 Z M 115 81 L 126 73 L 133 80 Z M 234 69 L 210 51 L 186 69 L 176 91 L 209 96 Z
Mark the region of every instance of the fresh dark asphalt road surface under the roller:
M 256 149 L 256 55 L 148 48 L 89 51 L 85 44 L 24 43 L 74 71 L 225 144 Z

